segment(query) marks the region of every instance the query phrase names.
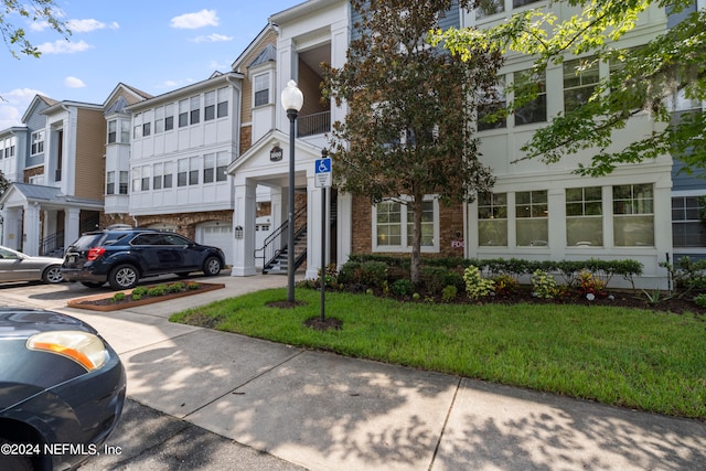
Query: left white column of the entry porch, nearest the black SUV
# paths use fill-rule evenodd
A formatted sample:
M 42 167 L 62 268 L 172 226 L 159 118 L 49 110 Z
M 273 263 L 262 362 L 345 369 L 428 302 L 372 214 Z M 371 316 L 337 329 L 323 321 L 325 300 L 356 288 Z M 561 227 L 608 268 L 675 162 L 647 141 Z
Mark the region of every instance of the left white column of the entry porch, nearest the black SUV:
M 231 275 L 247 277 L 257 274 L 255 267 L 255 220 L 257 185 L 250 180 L 235 186 L 235 214 L 233 214 L 234 260 Z M 238 232 L 243 231 L 243 236 Z

